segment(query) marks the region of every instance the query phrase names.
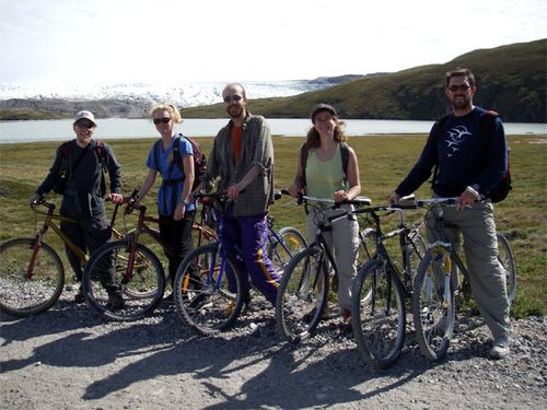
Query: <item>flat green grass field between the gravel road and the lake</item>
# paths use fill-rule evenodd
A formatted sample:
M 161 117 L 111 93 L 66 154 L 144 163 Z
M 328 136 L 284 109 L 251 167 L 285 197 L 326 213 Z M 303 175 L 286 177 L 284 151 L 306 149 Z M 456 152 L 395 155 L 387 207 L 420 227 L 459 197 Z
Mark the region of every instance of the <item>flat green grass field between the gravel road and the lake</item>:
M 353 137 L 349 143 L 358 153 L 363 195 L 373 203 L 384 203 L 388 194 L 407 174 L 418 157 L 424 143 L 424 136 Z M 275 137 L 276 186 L 287 187 L 295 172 L 296 151 L 303 138 Z M 113 140 L 114 148 L 123 164 L 124 192 L 129 194 L 144 180 L 144 166 L 153 139 Z M 206 153 L 212 139 L 200 138 Z M 511 242 L 516 257 L 517 293 L 512 308 L 514 317 L 545 315 L 547 308 L 546 269 L 546 164 L 547 139 L 532 136 L 510 137 L 512 175 L 514 189 L 509 198 L 497 204 L 498 230 Z M 34 233 L 35 214 L 27 207 L 27 198 L 46 176 L 51 165 L 58 142 L 33 142 L 0 145 L 0 241 Z M 156 183 L 158 187 L 158 183 Z M 430 195 L 427 184 L 418 197 Z M 59 197 L 50 198 L 60 203 Z M 149 209 L 155 211 L 155 190 L 146 199 Z M 304 231 L 303 210 L 282 199 L 271 213 L 277 226 L 293 225 Z M 420 212 L 410 213 L 408 220 L 419 219 Z M 42 219 L 37 219 L 37 223 Z M 119 226 L 131 227 L 135 216 L 119 219 Z M 387 220 L 395 224 L 395 220 Z M 55 235 L 47 234 L 46 241 L 62 255 L 61 244 Z M 68 267 L 68 265 L 66 265 Z

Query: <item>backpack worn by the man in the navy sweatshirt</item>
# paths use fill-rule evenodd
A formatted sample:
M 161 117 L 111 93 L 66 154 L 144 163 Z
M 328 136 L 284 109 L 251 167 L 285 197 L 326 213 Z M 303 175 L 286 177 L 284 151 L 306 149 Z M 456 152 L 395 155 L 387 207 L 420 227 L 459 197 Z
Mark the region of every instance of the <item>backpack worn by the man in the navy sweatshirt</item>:
M 439 119 L 434 124 L 433 129 L 431 130 L 431 134 L 433 136 L 433 138 L 435 138 L 435 139 L 439 138 L 440 131 L 441 131 L 444 122 L 449 118 L 449 115 L 450 114 L 445 115 L 444 117 L 442 117 L 441 119 Z M 491 136 L 493 134 L 494 119 L 498 118 L 499 116 L 500 115 L 498 113 L 490 109 L 490 110 L 487 110 L 485 113 L 485 115 L 482 115 L 479 118 L 479 132 L 481 136 L 486 134 L 486 136 L 488 136 L 488 138 L 492 138 Z M 511 189 L 513 189 L 513 187 L 511 185 L 511 157 L 510 157 L 510 154 L 511 154 L 511 150 L 508 147 L 507 172 L 503 175 L 503 177 L 501 178 L 501 181 L 496 187 L 490 189 L 490 200 L 492 201 L 492 203 L 503 201 L 508 197 L 509 191 Z M 435 168 L 433 171 L 433 179 L 432 179 L 431 186 L 433 186 L 435 184 L 438 172 L 439 172 L 439 164 L 435 165 Z

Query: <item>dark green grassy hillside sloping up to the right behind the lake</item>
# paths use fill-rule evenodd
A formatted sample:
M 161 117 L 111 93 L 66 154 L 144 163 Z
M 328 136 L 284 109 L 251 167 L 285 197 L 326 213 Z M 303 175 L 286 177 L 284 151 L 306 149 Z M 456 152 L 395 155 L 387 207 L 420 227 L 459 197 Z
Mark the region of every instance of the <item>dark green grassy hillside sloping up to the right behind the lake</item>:
M 335 105 L 342 118 L 431 120 L 444 115 L 444 74 L 456 67 L 477 79 L 475 103 L 505 121 L 547 122 L 547 39 L 475 50 L 442 65 L 351 81 L 291 97 L 253 99 L 249 109 L 270 118 L 306 118 L 318 102 Z M 186 108 L 188 118 L 224 117 L 222 104 Z

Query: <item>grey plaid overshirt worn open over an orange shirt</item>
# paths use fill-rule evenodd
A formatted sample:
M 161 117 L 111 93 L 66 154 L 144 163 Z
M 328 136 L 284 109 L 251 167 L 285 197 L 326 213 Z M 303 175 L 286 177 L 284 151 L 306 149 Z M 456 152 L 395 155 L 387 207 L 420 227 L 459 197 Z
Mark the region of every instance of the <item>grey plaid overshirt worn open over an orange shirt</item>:
M 269 126 L 264 117 L 247 113 L 243 125 L 242 153 L 234 163 L 231 144 L 233 122 L 223 127 L 217 137 L 207 162 L 207 180 L 218 184 L 219 191 L 237 184 L 253 165 L 260 167 L 260 174 L 240 194 L 235 216 L 257 215 L 268 210 L 274 201 L 274 144 Z

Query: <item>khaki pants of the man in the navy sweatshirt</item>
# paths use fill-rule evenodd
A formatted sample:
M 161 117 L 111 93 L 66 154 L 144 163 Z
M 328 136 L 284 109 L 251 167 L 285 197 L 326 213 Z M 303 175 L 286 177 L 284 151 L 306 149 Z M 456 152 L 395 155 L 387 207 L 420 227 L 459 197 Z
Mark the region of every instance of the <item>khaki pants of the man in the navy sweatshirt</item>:
M 475 203 L 470 209 L 456 211 L 445 207 L 444 221 L 454 225 L 445 227 L 446 238 L 459 251 L 461 234 L 469 284 L 485 323 L 494 340 L 508 339 L 511 332 L 509 302 L 507 295 L 505 270 L 498 261 L 498 239 L 491 203 Z M 428 239 L 437 238 L 433 215 L 427 220 Z M 430 227 L 431 226 L 431 227 Z

